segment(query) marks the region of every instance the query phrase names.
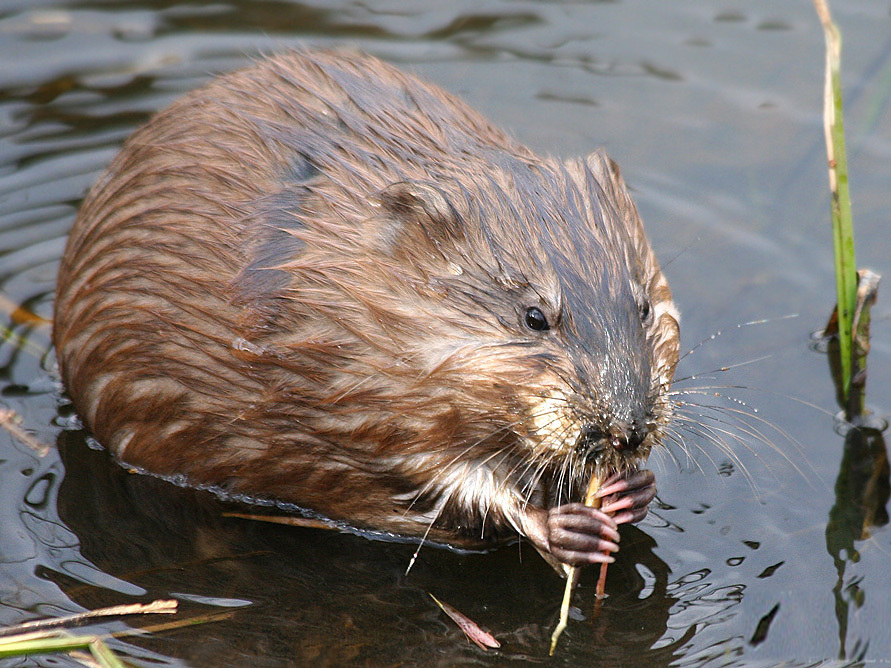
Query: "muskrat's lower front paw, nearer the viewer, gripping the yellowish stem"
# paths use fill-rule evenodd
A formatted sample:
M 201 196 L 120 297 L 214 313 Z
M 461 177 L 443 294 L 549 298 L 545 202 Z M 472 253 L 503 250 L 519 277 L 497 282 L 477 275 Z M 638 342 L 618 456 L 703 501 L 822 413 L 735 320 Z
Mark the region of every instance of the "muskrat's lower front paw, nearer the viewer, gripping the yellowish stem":
M 548 511 L 548 551 L 564 564 L 611 563 L 618 542 L 615 521 L 596 508 L 568 503 Z

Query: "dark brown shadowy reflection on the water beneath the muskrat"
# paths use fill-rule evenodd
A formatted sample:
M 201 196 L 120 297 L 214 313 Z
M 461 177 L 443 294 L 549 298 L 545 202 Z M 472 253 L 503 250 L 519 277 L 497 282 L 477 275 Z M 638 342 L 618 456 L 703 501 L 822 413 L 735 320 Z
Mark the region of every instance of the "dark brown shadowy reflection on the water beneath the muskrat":
M 562 581 L 526 546 L 488 554 L 318 529 L 227 518 L 232 504 L 207 492 L 133 474 L 83 434 L 63 432 L 60 519 L 79 541 L 80 573 L 45 564 L 40 576 L 85 608 L 175 597 L 186 616 L 229 609 L 231 619 L 139 640 L 195 665 L 525 665 L 545 661 Z M 245 506 L 236 510 L 245 512 Z M 248 512 L 250 509 L 248 508 Z M 663 637 L 674 603 L 654 541 L 629 528 L 609 569 L 610 596 L 596 623 L 596 572 L 577 593 L 561 647 L 569 665 L 614 666 L 648 656 L 669 665 Z M 86 565 L 98 569 L 90 583 Z M 67 571 L 67 572 L 66 572 Z M 430 599 L 447 601 L 502 643 L 484 653 Z M 683 642 L 681 639 L 679 642 Z

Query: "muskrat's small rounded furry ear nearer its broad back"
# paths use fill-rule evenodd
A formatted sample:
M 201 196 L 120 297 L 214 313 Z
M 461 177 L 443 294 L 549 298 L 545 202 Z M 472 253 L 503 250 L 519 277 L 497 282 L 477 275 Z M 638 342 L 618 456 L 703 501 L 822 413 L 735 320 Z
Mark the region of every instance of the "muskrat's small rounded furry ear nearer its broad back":
M 387 213 L 382 241 L 388 250 L 411 245 L 444 247 L 464 239 L 461 215 L 436 186 L 418 181 L 400 181 L 377 193 Z

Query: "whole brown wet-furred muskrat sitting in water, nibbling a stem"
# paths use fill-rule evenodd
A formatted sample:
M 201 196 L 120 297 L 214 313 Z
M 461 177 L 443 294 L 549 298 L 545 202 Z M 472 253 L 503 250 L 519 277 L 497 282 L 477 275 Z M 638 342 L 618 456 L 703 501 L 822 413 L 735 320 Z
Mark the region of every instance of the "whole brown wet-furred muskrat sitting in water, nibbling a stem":
M 646 515 L 679 339 L 602 153 L 537 157 L 435 86 L 311 51 L 130 137 L 68 238 L 53 336 L 124 462 L 571 564 Z M 604 512 L 572 502 L 595 469 L 619 472 Z

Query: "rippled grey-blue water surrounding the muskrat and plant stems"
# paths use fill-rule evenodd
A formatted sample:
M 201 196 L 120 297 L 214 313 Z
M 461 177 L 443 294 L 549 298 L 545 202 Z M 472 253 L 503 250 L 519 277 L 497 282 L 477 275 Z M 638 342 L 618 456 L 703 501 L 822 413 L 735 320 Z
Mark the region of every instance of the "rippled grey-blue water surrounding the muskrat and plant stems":
M 836 0 L 834 11 L 859 264 L 888 275 L 889 3 Z M 705 415 L 712 437 L 694 425 L 692 458 L 670 446 L 653 459 L 660 503 L 623 533 L 593 622 L 586 573 L 584 620 L 548 659 L 562 582 L 528 547 L 425 548 L 405 576 L 411 545 L 222 517 L 209 495 L 128 473 L 90 447 L 52 374 L 47 329 L 5 314 L 18 338 L 0 346 L 0 407 L 49 450 L 0 431 L 0 625 L 175 597 L 190 615 L 233 614 L 116 641 L 134 664 L 891 666 L 887 497 L 880 480 L 864 534 L 849 496 L 865 483 L 839 475 L 857 463 L 856 444 L 845 455 L 826 359 L 809 346 L 834 287 L 823 37 L 805 0 L 5 0 L 3 296 L 51 317 L 79 200 L 153 111 L 257 53 L 345 43 L 459 93 L 542 153 L 606 146 L 667 264 L 684 347 L 724 331 L 679 376 L 742 364 L 678 384 L 725 388 L 685 402 L 733 398 L 717 413 L 684 410 Z M 880 295 L 869 392 L 883 415 L 889 314 Z M 716 442 L 725 428 L 733 457 Z M 468 643 L 428 592 L 501 650 Z

